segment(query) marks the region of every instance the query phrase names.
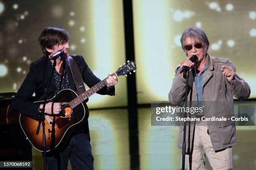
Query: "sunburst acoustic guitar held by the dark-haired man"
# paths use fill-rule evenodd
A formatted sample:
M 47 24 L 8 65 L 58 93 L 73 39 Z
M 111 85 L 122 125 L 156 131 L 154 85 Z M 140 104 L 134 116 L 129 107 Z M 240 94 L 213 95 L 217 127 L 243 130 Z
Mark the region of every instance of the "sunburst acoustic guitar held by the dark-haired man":
M 116 75 L 117 77 L 120 75 L 127 76 L 127 73 L 131 74 L 131 71 L 135 72 L 135 69 L 135 62 L 128 61 L 112 75 Z M 106 79 L 97 83 L 81 95 L 77 95 L 73 90 L 64 89 L 58 92 L 53 98 L 47 100 L 47 102 L 60 102 L 61 112 L 58 116 L 45 115 L 46 152 L 55 148 L 61 148 L 67 142 L 76 125 L 88 119 L 89 110 L 84 101 L 107 85 Z M 37 101 L 35 103 L 43 104 L 44 101 Z M 43 128 L 36 135 L 38 121 L 20 114 L 20 126 L 33 147 L 43 152 Z

